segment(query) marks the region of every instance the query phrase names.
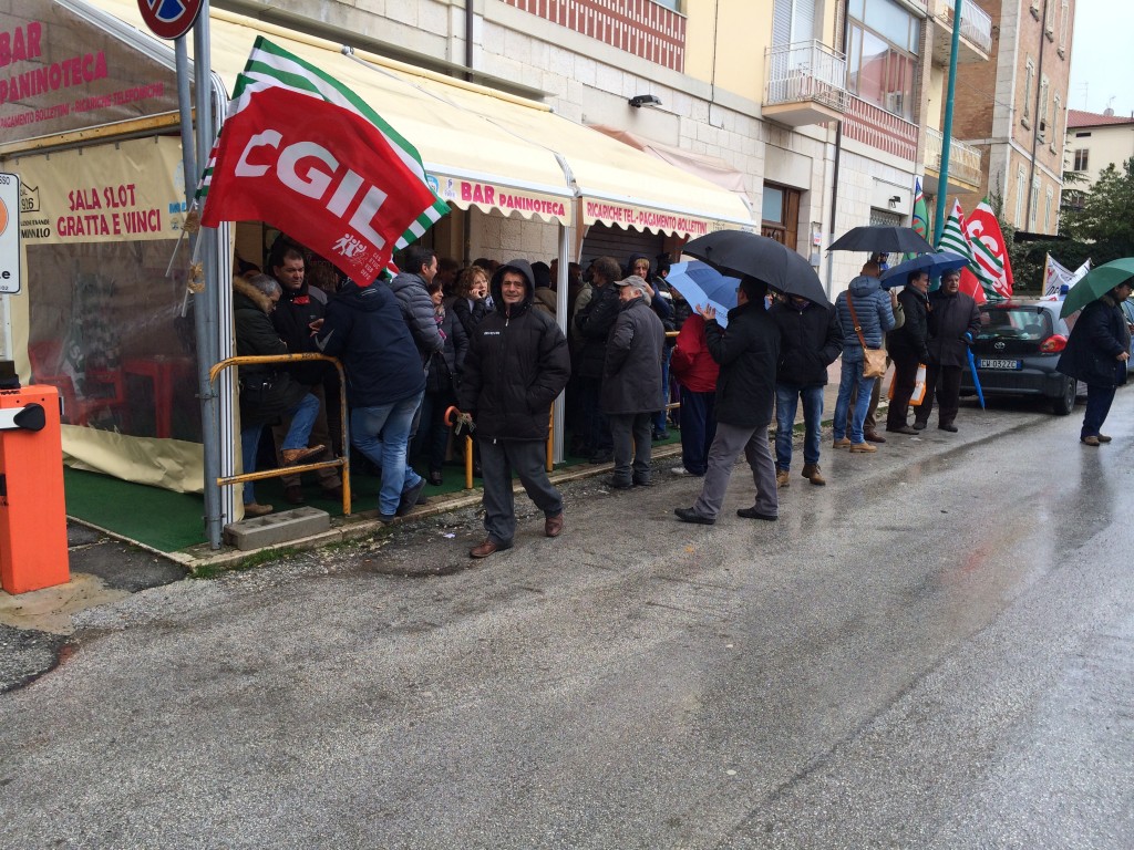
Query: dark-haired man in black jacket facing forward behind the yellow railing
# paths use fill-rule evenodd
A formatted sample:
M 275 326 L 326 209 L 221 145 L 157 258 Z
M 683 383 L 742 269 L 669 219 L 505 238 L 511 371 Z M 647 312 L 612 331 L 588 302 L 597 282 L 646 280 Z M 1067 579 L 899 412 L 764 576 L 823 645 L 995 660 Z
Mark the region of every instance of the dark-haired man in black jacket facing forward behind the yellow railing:
M 282 295 L 272 312 L 272 325 L 280 339 L 287 343 L 291 354 L 314 352 L 319 349 L 314 342 L 314 330 L 325 315 L 327 294 L 319 287 L 312 287 L 306 278 L 306 265 L 303 254 L 294 248 L 280 245 L 271 257 L 272 274 L 282 287 Z M 319 416 L 311 430 L 311 441 L 315 444 L 331 445 L 330 430 L 327 423 L 327 392 L 323 389 L 330 366 L 320 360 L 293 363 L 287 367 L 291 377 L 319 399 Z M 280 425 L 272 427 L 276 445 L 281 445 L 287 434 L 287 417 Z M 320 461 L 333 460 L 330 449 L 316 458 Z M 328 499 L 342 499 L 342 479 L 335 467 L 316 469 L 319 486 Z M 303 504 L 303 482 L 299 475 L 287 475 L 281 482 L 284 499 L 291 504 Z

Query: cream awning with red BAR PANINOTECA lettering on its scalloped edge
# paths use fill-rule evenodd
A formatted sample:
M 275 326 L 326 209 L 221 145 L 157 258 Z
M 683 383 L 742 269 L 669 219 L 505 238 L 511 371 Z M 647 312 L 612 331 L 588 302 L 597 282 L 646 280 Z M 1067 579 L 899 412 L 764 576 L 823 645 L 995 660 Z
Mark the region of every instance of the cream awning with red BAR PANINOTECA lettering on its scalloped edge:
M 136 0 L 83 1 L 145 31 Z M 754 227 L 733 192 L 544 104 L 361 51 L 345 53 L 332 42 L 222 10 L 213 9 L 210 23 L 212 67 L 230 92 L 255 37 L 271 39 L 366 99 L 417 148 L 438 194 L 458 207 L 570 224 L 575 201 L 583 224 L 689 237 Z M 171 46 L 152 42 L 172 62 Z

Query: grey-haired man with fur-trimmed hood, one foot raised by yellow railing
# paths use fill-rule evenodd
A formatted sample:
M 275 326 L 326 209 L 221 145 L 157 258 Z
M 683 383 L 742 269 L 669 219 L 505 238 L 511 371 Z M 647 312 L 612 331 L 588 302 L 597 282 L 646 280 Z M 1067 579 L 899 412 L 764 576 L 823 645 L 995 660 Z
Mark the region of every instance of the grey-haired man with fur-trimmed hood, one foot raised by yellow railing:
M 232 316 L 236 325 L 236 354 L 238 357 L 286 355 L 287 345 L 272 326 L 269 314 L 280 299 L 280 284 L 266 274 L 255 274 L 248 280 L 232 280 Z M 238 368 L 240 381 L 240 449 L 244 471 L 256 470 L 256 452 L 264 425 L 279 416 L 290 416 L 284 439 L 285 466 L 294 466 L 323 452 L 325 445 L 307 448 L 311 428 L 319 415 L 319 399 L 277 364 L 255 364 Z M 270 513 L 270 504 L 257 504 L 253 483 L 244 485 L 244 513 L 262 517 Z

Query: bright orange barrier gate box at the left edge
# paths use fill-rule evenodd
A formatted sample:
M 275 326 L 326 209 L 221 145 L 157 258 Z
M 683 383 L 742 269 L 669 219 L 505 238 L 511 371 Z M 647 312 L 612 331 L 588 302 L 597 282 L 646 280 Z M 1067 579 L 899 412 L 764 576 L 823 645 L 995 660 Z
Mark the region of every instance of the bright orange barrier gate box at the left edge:
M 69 580 L 59 391 L 0 390 L 0 586 L 17 594 Z

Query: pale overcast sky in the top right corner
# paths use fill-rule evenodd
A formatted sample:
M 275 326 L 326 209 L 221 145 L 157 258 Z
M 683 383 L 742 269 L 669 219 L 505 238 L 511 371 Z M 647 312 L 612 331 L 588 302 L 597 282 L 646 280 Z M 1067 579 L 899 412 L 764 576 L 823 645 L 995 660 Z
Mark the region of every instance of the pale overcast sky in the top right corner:
M 1075 3 L 1067 105 L 1088 112 L 1102 112 L 1110 105 L 1119 116 L 1134 112 L 1134 2 L 1131 0 Z

